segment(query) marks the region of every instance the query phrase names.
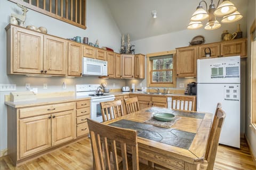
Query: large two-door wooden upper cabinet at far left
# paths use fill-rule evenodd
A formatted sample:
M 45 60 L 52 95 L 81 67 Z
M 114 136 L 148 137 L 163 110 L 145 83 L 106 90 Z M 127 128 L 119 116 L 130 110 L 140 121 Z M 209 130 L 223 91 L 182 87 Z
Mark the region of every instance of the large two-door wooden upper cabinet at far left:
M 67 41 L 8 25 L 7 73 L 67 75 Z

